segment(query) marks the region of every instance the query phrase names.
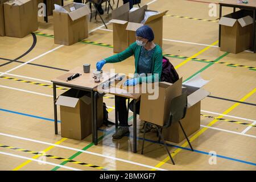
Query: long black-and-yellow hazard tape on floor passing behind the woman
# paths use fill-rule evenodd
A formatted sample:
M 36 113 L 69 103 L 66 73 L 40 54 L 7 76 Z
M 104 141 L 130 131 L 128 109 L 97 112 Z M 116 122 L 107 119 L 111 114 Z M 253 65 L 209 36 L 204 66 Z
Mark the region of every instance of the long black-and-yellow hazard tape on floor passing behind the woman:
M 42 34 L 40 32 L 34 32 L 36 35 L 42 35 L 42 36 L 48 36 L 51 38 L 54 38 L 54 35 L 48 35 L 48 34 Z M 90 40 L 81 40 L 81 43 L 85 43 L 85 44 L 93 44 L 96 46 L 104 46 L 104 47 L 109 47 L 109 48 L 113 48 L 113 45 L 110 44 L 104 44 L 104 43 L 97 43 L 97 42 L 93 42 Z M 163 53 L 163 56 L 167 56 L 167 57 L 173 57 L 173 58 L 177 58 L 177 59 L 188 59 L 188 56 L 179 56 L 179 55 L 172 55 L 170 53 Z M 199 58 L 192 58 L 192 61 L 199 61 L 199 62 L 203 62 L 203 63 L 218 63 L 218 64 L 224 64 L 228 67 L 241 67 L 241 68 L 249 68 L 250 70 L 256 71 L 256 67 L 249 67 L 246 65 L 240 65 L 240 64 L 233 64 L 233 63 L 225 63 L 225 62 L 218 62 L 218 61 L 213 61 L 213 60 L 207 60 L 207 59 L 199 59 Z

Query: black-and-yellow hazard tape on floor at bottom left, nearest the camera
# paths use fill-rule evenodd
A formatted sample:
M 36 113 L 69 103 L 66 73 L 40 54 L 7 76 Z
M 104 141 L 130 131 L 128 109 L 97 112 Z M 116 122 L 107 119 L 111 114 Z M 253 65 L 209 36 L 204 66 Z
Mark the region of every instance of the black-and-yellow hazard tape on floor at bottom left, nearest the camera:
M 93 165 L 93 164 L 87 164 L 87 163 L 84 163 L 84 162 L 79 162 L 79 161 L 76 161 L 76 160 L 70 160 L 70 159 L 65 159 L 65 158 L 60 158 L 58 156 L 53 156 L 53 155 L 46 155 L 46 154 L 42 154 L 40 152 L 35 152 L 35 151 L 30 151 L 30 150 L 26 150 L 26 149 L 22 149 L 22 148 L 18 148 L 18 147 L 11 147 L 11 146 L 6 146 L 4 144 L 0 144 L 0 147 L 2 148 L 9 148 L 11 150 L 16 150 L 16 151 L 21 151 L 21 152 L 26 152 L 26 153 L 30 153 L 30 154 L 35 154 L 35 155 L 41 155 L 41 156 L 46 156 L 47 158 L 51 158 L 51 159 L 57 159 L 57 160 L 63 160 L 65 162 L 69 162 L 69 163 L 74 163 L 74 164 L 79 164 L 81 166 L 86 166 L 86 167 L 92 167 L 92 168 L 95 168 L 95 169 L 101 169 L 101 170 L 109 170 L 105 167 L 100 167 L 100 166 L 96 166 L 96 165 Z

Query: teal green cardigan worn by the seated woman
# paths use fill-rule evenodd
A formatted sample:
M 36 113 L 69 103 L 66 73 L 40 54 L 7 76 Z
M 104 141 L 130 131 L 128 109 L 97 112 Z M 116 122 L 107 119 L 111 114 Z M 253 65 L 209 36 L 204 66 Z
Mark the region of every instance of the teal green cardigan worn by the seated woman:
M 135 73 L 138 73 L 138 62 L 139 62 L 139 56 L 141 54 L 141 48 L 142 46 L 138 46 L 136 42 L 131 44 L 128 48 L 125 49 L 125 51 L 122 51 L 120 53 L 117 53 L 113 56 L 110 56 L 106 58 L 106 63 L 118 63 L 125 59 L 127 59 L 130 56 L 135 57 Z M 138 81 L 141 84 L 142 82 L 154 82 L 154 81 L 160 81 L 161 73 L 162 73 L 162 62 L 163 62 L 163 53 L 162 48 L 156 44 L 155 52 L 152 57 L 153 63 L 152 63 L 152 75 L 147 77 L 138 77 Z M 158 80 L 155 80 L 155 74 L 158 74 Z

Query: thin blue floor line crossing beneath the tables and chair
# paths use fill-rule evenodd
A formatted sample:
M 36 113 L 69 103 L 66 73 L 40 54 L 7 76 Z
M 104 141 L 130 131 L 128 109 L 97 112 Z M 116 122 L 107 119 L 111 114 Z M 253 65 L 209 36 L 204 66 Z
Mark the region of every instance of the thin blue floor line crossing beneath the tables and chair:
M 1 109 L 1 108 L 0 108 L 0 111 L 5 111 L 5 112 L 8 112 L 8 113 L 14 113 L 14 114 L 19 114 L 19 115 L 25 115 L 25 116 L 32 117 L 32 118 L 44 119 L 44 120 L 46 120 L 46 121 L 52 121 L 52 122 L 54 122 L 54 119 L 39 117 L 39 116 L 36 116 L 36 115 L 31 115 L 31 114 L 19 113 L 19 112 L 7 110 L 7 109 Z M 58 122 L 60 123 L 59 120 L 58 120 Z M 104 129 L 98 129 L 98 130 L 106 132 L 106 130 L 104 130 Z M 110 130 L 110 131 L 112 131 L 112 130 Z M 114 131 L 114 130 L 113 130 L 113 131 Z M 127 137 L 133 138 L 132 135 L 127 135 Z M 138 137 L 137 139 L 142 140 L 143 138 Z M 151 142 L 151 143 L 158 143 L 158 141 L 154 141 L 154 140 L 150 140 L 150 139 L 145 139 L 145 140 L 146 140 L 147 142 Z M 162 144 L 162 143 L 161 143 L 161 144 Z M 167 143 L 167 146 L 176 147 L 176 148 L 181 148 L 181 149 L 184 149 L 184 150 L 189 150 L 189 151 L 191 151 L 191 148 L 185 148 L 185 147 L 175 146 L 175 145 L 173 145 L 173 144 L 168 144 L 168 143 Z M 205 155 L 210 155 L 209 152 L 204 152 L 204 151 L 200 151 L 200 150 L 194 150 L 194 152 L 197 152 L 197 153 L 200 153 L 200 154 L 205 154 Z M 236 161 L 236 162 L 240 162 L 240 163 L 245 163 L 245 164 L 250 164 L 250 165 L 256 166 L 256 163 L 247 162 L 247 161 L 245 161 L 245 160 L 229 158 L 229 157 L 223 156 L 223 155 L 216 155 L 216 156 L 217 156 L 218 158 L 233 160 L 233 161 Z

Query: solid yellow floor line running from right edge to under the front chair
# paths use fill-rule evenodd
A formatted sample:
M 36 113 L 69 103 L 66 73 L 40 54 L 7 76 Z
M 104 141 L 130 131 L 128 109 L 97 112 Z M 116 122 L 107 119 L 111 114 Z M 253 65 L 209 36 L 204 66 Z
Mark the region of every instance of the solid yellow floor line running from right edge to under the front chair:
M 245 101 L 247 98 L 249 98 L 251 95 L 253 95 L 256 92 L 256 88 L 254 88 L 251 92 L 249 92 L 248 94 L 246 94 L 246 96 L 244 96 L 243 98 L 241 98 L 241 102 Z M 234 105 L 232 105 L 231 107 L 229 107 L 229 109 L 225 110 L 224 113 L 222 114 L 228 114 L 230 111 L 232 111 L 233 109 L 235 109 L 238 105 L 240 105 L 240 103 L 236 103 Z M 217 118 L 222 118 L 223 115 L 219 115 Z M 207 126 L 212 126 L 214 123 L 216 123 L 217 121 L 219 121 L 218 119 L 213 119 L 212 122 L 210 122 Z M 204 133 L 204 131 L 206 131 L 208 128 L 204 127 L 203 129 L 201 129 L 200 131 L 198 131 L 195 135 L 193 135 L 189 140 L 190 142 L 192 142 L 193 140 L 195 140 L 197 137 L 199 137 L 201 134 Z M 188 142 L 185 142 L 181 145 L 181 147 L 187 147 L 188 146 Z M 174 157 L 177 153 L 179 153 L 182 149 L 181 148 L 177 148 L 174 152 L 172 152 L 171 156 Z M 168 160 L 170 160 L 170 157 L 168 156 L 167 158 L 165 158 L 164 160 L 162 160 L 162 162 L 158 163 L 155 167 L 161 167 L 163 166 L 163 164 L 165 164 Z M 155 169 L 151 169 L 151 171 L 155 171 Z

